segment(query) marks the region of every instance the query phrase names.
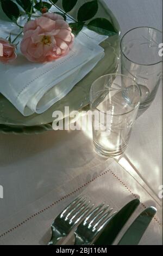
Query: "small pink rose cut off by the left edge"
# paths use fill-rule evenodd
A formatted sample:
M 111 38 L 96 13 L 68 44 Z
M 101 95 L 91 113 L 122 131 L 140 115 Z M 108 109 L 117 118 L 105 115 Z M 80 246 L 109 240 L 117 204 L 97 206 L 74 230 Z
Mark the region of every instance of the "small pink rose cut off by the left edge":
M 16 59 L 15 45 L 8 40 L 0 38 L 0 61 L 4 63 L 12 62 Z

